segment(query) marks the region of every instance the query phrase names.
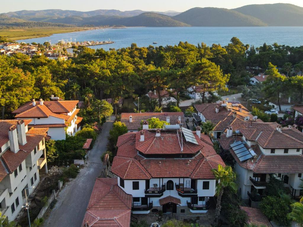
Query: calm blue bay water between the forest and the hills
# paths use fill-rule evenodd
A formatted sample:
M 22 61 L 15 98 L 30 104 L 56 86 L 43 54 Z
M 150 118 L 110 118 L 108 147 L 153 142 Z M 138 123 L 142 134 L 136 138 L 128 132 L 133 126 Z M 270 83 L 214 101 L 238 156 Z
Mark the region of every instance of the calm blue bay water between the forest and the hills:
M 44 43 L 51 41 L 56 43 L 64 39 L 72 41 L 105 41 L 112 40 L 113 44 L 91 46 L 91 48 L 124 48 L 136 43 L 139 47 L 149 45 L 165 46 L 175 45 L 179 41 L 188 41 L 197 45 L 204 42 L 207 45 L 213 43 L 227 45 L 232 37 L 238 37 L 244 44 L 259 47 L 263 43 L 284 44 L 289 46 L 303 45 L 303 27 L 174 27 L 174 28 L 121 28 L 98 29 L 78 31 L 71 33 L 54 34 L 49 37 L 18 40 L 19 42 Z M 152 44 L 157 42 L 158 44 Z

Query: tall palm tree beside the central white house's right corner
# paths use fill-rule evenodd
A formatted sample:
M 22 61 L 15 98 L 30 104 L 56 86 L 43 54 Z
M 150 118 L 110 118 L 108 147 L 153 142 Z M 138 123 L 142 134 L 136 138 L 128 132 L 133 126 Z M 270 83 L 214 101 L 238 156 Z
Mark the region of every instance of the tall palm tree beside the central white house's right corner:
M 219 216 L 221 212 L 221 198 L 225 188 L 229 187 L 233 192 L 237 192 L 237 185 L 234 182 L 236 174 L 232 171 L 230 166 L 218 165 L 218 169 L 212 169 L 212 173 L 215 175 L 218 184 L 216 186 L 217 205 L 215 211 L 216 222 L 219 222 Z

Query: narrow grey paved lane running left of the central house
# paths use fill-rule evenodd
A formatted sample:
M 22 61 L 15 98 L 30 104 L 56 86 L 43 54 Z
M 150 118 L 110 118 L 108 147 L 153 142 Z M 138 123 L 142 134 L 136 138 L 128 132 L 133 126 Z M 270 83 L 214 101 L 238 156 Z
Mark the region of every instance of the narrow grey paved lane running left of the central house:
M 100 176 L 102 162 L 100 156 L 106 151 L 107 137 L 112 129 L 114 117 L 104 123 L 88 156 L 88 163 L 81 169 L 77 178 L 64 186 L 59 193 L 58 202 L 45 220 L 44 227 L 80 227 L 91 196 L 96 177 Z

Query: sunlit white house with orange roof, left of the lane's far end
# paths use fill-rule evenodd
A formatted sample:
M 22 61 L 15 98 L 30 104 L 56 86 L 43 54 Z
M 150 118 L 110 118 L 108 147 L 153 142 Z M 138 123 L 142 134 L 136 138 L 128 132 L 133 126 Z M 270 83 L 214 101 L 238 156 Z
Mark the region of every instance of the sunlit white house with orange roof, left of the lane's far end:
M 12 113 L 16 119 L 32 120 L 30 127 L 48 127 L 48 136 L 52 140 L 65 140 L 66 134 L 74 136 L 81 130 L 78 117 L 78 100 L 61 100 L 59 97 L 51 97 L 50 101 L 27 102 Z

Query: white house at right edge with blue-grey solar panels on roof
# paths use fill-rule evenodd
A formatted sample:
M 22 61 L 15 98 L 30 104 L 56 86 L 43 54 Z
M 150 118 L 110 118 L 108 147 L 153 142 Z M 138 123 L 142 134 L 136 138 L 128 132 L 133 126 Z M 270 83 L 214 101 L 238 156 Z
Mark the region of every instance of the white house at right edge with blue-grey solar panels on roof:
M 255 123 L 218 139 L 221 147 L 235 159 L 235 172 L 241 198 L 258 202 L 270 175 L 281 179 L 291 196 L 300 195 L 303 172 L 303 134 L 277 123 Z M 260 201 L 260 200 L 259 200 Z

